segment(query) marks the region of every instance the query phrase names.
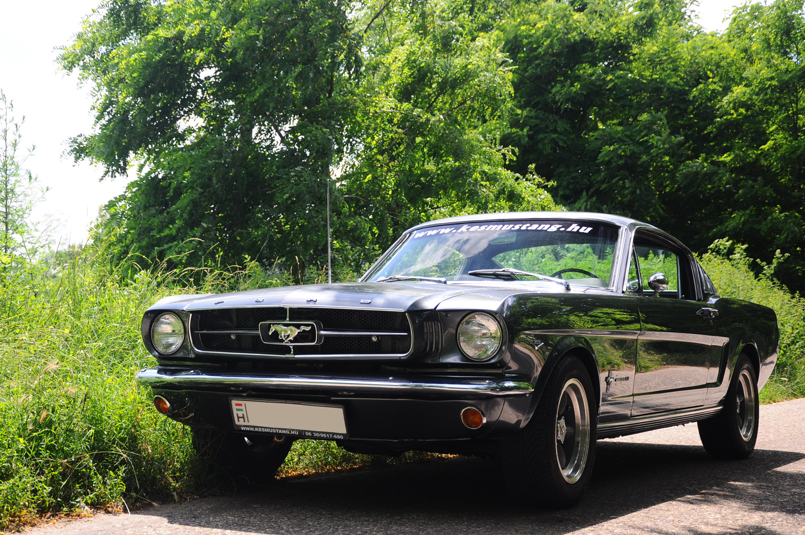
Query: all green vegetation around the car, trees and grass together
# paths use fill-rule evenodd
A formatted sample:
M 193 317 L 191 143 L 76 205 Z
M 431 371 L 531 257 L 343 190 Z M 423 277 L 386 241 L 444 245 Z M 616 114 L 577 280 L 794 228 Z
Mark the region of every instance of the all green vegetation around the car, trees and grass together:
M 803 2 L 747 3 L 723 34 L 690 5 L 102 2 L 59 58 L 95 98 L 70 152 L 134 181 L 89 246 L 37 237 L 43 191 L 0 92 L 0 530 L 231 489 L 134 383 L 154 364 L 142 312 L 325 280 L 329 201 L 334 280 L 452 215 L 564 207 L 672 230 L 722 296 L 778 313 L 762 401 L 805 396 Z M 726 235 L 747 245 L 712 243 Z M 423 458 L 299 441 L 280 475 Z

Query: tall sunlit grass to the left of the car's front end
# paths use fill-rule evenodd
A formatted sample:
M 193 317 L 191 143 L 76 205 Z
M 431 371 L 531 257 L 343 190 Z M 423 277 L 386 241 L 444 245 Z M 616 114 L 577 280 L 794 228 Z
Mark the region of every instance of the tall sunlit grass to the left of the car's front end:
M 126 280 L 97 249 L 58 276 L 6 274 L 0 526 L 37 512 L 124 505 L 124 490 L 175 490 L 191 458 L 183 430 L 148 410 L 134 384 L 138 368 L 153 363 L 139 318 L 175 289 L 167 279 L 155 270 Z

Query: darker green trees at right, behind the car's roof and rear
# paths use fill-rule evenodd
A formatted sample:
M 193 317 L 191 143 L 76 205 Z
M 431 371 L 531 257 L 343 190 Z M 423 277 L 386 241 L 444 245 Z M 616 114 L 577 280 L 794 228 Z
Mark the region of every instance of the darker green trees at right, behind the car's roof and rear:
M 746 243 L 805 289 L 805 14 L 738 8 L 704 33 L 683 0 L 523 3 L 502 23 L 514 62 L 514 170 L 556 201 L 651 222 L 704 252 Z M 756 271 L 759 264 L 753 266 Z

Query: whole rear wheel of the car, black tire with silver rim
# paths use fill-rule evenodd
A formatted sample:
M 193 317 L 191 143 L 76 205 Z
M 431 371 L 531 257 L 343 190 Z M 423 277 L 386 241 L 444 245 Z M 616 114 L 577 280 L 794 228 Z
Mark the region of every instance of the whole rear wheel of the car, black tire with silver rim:
M 746 355 L 735 365 L 724 410 L 700 420 L 699 437 L 708 454 L 718 458 L 747 458 L 758 442 L 758 376 Z

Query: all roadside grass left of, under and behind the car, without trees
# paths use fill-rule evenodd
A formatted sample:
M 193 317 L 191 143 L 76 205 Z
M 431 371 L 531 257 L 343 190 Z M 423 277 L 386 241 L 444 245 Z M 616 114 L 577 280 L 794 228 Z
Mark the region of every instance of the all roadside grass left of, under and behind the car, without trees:
M 30 266 L 0 282 L 0 530 L 47 512 L 125 509 L 142 500 L 200 494 L 220 485 L 196 462 L 187 429 L 159 416 L 134 374 L 155 364 L 138 330 L 142 311 L 176 292 L 210 292 L 290 283 L 250 264 L 204 272 L 184 288 L 180 274 L 134 263 L 111 267 L 102 247 L 62 266 Z M 744 259 L 705 255 L 725 296 L 772 306 L 780 317 L 778 370 L 766 401 L 805 396 L 805 303 Z M 198 279 L 198 277 L 197 277 Z M 411 462 L 354 455 L 332 442 L 296 442 L 281 475 Z M 220 487 L 218 487 L 220 488 Z

